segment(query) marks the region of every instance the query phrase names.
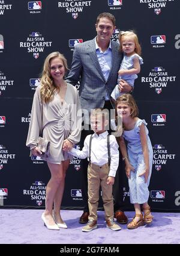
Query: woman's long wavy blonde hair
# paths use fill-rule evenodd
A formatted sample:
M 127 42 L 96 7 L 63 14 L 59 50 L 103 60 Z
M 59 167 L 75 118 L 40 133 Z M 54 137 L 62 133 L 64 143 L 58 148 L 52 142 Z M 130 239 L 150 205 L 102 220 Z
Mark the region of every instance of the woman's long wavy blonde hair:
M 58 89 L 55 83 L 53 83 L 52 76 L 50 75 L 50 61 L 53 58 L 60 58 L 62 60 L 62 63 L 64 64 L 65 73 L 68 70 L 67 60 L 63 54 L 60 54 L 60 52 L 52 52 L 51 54 L 47 55 L 46 60 L 44 61 L 43 72 L 41 74 L 40 90 L 41 101 L 45 103 L 52 101 L 53 93 L 55 92 L 55 90 Z

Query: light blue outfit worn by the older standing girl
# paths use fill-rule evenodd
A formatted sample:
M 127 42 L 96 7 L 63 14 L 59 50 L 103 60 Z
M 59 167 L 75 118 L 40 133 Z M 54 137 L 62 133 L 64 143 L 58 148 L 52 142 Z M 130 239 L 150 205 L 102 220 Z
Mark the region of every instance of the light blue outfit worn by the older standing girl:
M 145 170 L 145 161 L 143 157 L 142 145 L 140 142 L 139 126 L 144 123 L 146 131 L 146 139 L 149 149 L 149 177 L 148 181 L 145 183 L 145 176 L 140 176 L 139 174 Z M 147 123 L 145 120 L 138 119 L 134 125 L 134 129 L 130 131 L 124 131 L 122 136 L 127 142 L 128 158 L 131 166 L 134 167 L 134 172 L 131 171 L 131 177 L 128 179 L 130 187 L 130 202 L 131 204 L 143 204 L 148 202 L 149 198 L 149 181 L 152 172 L 152 160 L 153 160 L 153 150 L 151 145 L 151 140 L 148 136 L 148 129 L 146 127 Z

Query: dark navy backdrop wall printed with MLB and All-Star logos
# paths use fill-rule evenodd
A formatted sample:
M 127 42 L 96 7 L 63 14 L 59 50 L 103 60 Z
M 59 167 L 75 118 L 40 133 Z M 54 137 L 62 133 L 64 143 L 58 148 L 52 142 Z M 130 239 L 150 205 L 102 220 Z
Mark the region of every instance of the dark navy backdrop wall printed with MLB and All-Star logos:
M 142 45 L 144 64 L 133 95 L 154 148 L 149 204 L 153 210 L 180 210 L 179 0 L 0 0 L 2 208 L 44 207 L 49 169 L 46 162 L 29 157 L 25 145 L 44 58 L 60 51 L 70 67 L 74 45 L 96 36 L 96 18 L 104 11 L 116 17 L 112 40 L 118 41 L 120 30 L 135 30 Z M 81 161 L 74 157 L 67 172 L 64 208 L 83 207 L 81 171 Z M 121 190 L 130 210 L 127 178 L 122 176 Z

